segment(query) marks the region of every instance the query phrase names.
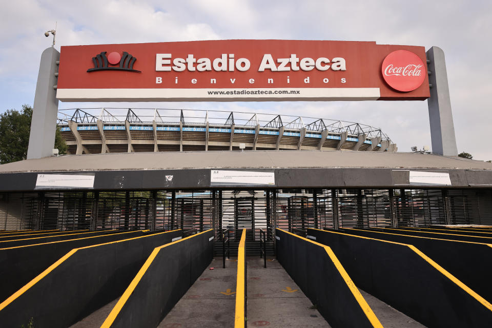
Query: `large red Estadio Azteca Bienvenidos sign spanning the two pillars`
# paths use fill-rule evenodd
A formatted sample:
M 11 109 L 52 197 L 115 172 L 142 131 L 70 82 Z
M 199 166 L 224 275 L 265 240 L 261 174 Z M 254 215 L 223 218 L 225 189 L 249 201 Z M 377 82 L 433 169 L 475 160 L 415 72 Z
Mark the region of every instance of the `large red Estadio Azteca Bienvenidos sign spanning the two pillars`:
M 418 76 L 422 81 L 411 90 L 400 90 L 397 83 L 386 80 L 400 74 L 398 60 L 389 63 L 393 64 L 389 76 L 384 70 L 381 74 L 383 60 L 398 51 L 412 53 L 422 63 Z M 214 40 L 69 46 L 61 47 L 57 97 L 64 101 L 423 100 L 429 97 L 424 63 L 423 47 L 375 42 Z M 403 71 L 405 78 L 416 77 L 416 70 Z

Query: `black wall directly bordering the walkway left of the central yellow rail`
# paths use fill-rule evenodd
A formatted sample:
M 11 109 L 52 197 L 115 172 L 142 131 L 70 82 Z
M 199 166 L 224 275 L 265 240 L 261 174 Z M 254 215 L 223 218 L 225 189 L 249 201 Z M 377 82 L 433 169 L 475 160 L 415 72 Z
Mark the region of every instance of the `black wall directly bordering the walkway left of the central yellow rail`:
M 212 261 L 213 236 L 207 230 L 160 248 L 111 327 L 156 327 Z

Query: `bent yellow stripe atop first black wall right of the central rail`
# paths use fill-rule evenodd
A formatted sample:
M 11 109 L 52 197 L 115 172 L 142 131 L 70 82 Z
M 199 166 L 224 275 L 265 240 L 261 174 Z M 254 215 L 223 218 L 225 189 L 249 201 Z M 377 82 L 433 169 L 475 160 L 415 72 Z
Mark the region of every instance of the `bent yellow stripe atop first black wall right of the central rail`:
M 356 299 L 357 303 L 359 303 L 359 306 L 362 309 L 362 311 L 364 312 L 364 314 L 367 317 L 367 319 L 371 322 L 371 324 L 374 327 L 381 327 L 381 328 L 383 327 L 383 325 L 381 324 L 381 322 L 379 322 L 378 317 L 376 317 L 376 315 L 374 314 L 373 309 L 371 309 L 371 306 L 369 306 L 369 304 L 367 304 L 367 301 L 364 299 L 364 297 L 360 293 L 360 291 L 357 288 L 357 286 L 355 285 L 354 281 L 352 281 L 352 279 L 350 278 L 350 276 L 348 275 L 348 273 L 343 268 L 342 263 L 340 263 L 340 261 L 338 260 L 337 256 L 335 255 L 335 253 L 333 253 L 333 250 L 329 246 L 323 245 L 323 244 L 321 244 L 319 242 L 313 241 L 313 240 L 308 239 L 308 238 L 304 238 L 304 237 L 298 236 L 298 235 L 293 234 L 293 233 L 291 233 L 289 231 L 285 231 L 285 230 L 282 230 L 282 229 L 278 229 L 278 230 L 283 231 L 283 232 L 285 232 L 287 234 L 290 234 L 292 236 L 295 236 L 297 238 L 301 238 L 302 240 L 309 241 L 309 242 L 311 242 L 313 244 L 318 245 L 319 247 L 322 247 L 326 251 L 326 253 L 328 254 L 328 256 L 330 257 L 330 259 L 332 260 L 333 264 L 335 264 L 335 267 L 337 268 L 338 273 L 340 273 L 340 276 L 342 276 L 342 278 L 345 281 L 348 289 L 352 292 L 352 295 L 354 295 L 354 298 Z M 315 229 L 315 230 L 319 230 L 319 229 Z M 324 230 L 320 230 L 320 231 L 324 231 Z

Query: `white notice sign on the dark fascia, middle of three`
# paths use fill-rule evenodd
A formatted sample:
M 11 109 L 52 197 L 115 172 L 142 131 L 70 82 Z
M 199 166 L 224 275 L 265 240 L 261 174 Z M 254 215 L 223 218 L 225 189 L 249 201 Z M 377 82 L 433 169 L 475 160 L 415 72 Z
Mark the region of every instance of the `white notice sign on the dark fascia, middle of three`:
M 274 172 L 212 170 L 211 185 L 275 185 Z

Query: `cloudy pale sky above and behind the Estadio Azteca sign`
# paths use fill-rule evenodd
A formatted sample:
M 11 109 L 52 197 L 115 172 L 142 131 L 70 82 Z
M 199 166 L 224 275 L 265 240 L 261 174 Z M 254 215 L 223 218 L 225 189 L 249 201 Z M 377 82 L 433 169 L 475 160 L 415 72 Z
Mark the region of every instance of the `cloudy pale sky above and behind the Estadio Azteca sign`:
M 444 50 L 458 152 L 492 159 L 492 1 L 36 1 L 2 3 L 0 112 L 32 105 L 39 59 L 56 45 L 213 39 L 311 39 Z M 381 128 L 398 151 L 431 145 L 427 101 L 61 103 L 59 108 L 234 110 L 355 121 Z

